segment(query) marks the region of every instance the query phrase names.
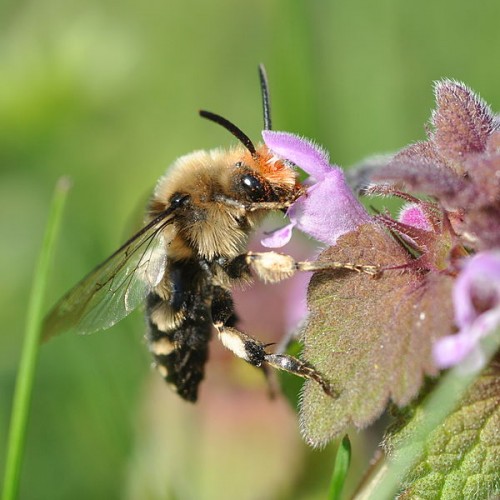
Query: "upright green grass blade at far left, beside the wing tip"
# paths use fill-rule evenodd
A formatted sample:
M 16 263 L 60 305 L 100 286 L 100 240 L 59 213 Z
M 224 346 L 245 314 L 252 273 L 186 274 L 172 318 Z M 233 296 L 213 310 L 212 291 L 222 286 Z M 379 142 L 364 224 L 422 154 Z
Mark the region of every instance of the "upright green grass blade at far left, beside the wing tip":
M 61 178 L 56 185 L 42 248 L 35 269 L 27 311 L 24 343 L 12 404 L 2 493 L 3 500 L 14 500 L 17 498 L 19 492 L 19 479 L 26 440 L 26 426 L 42 330 L 43 298 L 54 242 L 59 230 L 69 187 L 70 182 L 67 178 Z

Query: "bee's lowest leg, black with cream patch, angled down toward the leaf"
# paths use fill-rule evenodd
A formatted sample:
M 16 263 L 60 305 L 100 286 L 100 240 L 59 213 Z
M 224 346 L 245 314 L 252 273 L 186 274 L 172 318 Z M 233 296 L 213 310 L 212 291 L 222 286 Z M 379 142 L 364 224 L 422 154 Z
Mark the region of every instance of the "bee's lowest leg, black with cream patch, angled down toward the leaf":
M 236 328 L 224 326 L 221 322 L 215 322 L 214 326 L 224 347 L 251 365 L 257 367 L 268 365 L 302 378 L 314 380 L 327 395 L 332 397 L 335 395 L 330 383 L 308 364 L 288 354 L 269 354 L 266 352 L 265 344 Z

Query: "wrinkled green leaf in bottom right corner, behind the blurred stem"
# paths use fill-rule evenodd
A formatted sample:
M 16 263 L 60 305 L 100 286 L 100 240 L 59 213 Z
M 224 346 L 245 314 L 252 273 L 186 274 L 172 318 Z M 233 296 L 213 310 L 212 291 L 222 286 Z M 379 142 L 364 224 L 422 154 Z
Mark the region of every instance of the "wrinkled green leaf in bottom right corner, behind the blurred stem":
M 420 416 L 417 408 L 412 421 L 388 440 L 389 446 L 397 446 L 411 435 Z M 486 499 L 500 494 L 499 431 L 497 362 L 472 384 L 461 405 L 429 434 L 399 498 Z M 401 448 L 397 454 L 408 452 Z

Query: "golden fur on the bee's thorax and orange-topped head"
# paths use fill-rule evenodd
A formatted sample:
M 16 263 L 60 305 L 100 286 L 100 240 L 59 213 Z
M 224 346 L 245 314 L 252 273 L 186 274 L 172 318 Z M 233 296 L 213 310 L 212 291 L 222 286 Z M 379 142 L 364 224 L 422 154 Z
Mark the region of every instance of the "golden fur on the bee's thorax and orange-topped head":
M 159 180 L 150 210 L 151 216 L 164 210 L 177 193 L 190 196 L 192 208 L 177 215 L 176 234 L 166 238 L 170 241 L 170 258 L 212 260 L 219 256 L 234 258 L 244 252 L 249 233 L 267 211 L 248 211 L 244 200 L 240 202 L 234 180 L 241 169 L 261 175 L 282 190 L 295 189 L 293 170 L 273 158 L 265 146 L 259 148 L 258 159 L 243 147 L 196 151 L 179 158 Z

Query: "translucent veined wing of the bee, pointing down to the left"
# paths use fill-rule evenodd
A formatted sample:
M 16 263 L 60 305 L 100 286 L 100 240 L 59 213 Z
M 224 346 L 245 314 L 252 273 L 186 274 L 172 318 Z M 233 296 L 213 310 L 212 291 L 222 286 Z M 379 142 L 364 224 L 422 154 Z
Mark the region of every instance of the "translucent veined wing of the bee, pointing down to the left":
M 131 313 L 163 278 L 171 239 L 164 228 L 172 222 L 165 210 L 73 287 L 46 317 L 43 340 L 104 330 Z

